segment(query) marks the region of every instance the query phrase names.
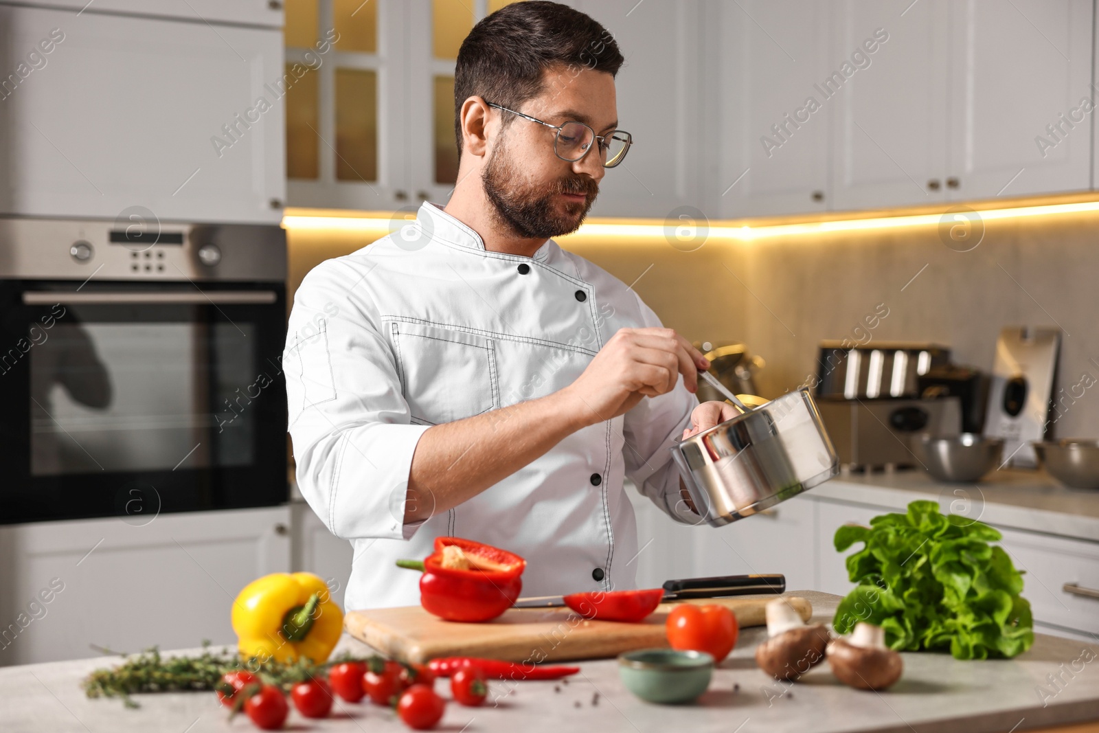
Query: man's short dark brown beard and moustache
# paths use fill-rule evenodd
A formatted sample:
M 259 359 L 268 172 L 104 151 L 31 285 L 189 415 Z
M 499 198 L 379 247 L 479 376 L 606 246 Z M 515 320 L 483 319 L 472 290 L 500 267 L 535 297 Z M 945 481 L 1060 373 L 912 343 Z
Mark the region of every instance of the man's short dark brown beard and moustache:
M 532 185 L 523 180 L 511 159 L 500 153 L 499 147 L 492 151 L 481 173 L 485 195 L 496 209 L 497 221 L 517 236 L 529 240 L 547 240 L 580 227 L 599 193 L 599 184 L 588 176 L 571 174 L 548 186 Z M 559 213 L 555 201 L 559 193 L 588 198 L 584 203 L 566 203 L 564 213 Z

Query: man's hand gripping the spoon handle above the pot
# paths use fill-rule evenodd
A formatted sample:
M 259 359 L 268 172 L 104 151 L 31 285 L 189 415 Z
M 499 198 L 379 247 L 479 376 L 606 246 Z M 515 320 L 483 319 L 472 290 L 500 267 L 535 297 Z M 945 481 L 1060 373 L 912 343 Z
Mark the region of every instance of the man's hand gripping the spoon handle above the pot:
M 578 401 L 586 424 L 629 412 L 643 397 L 684 386 L 698 388 L 698 371 L 710 366 L 671 329 L 619 329 L 576 381 L 565 389 Z

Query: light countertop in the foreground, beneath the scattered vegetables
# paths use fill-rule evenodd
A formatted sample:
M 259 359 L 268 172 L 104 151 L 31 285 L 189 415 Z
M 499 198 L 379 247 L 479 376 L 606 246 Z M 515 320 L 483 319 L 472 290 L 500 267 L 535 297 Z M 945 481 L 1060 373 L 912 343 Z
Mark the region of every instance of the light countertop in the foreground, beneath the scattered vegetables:
M 839 597 L 797 591 L 814 607 L 814 621 L 831 619 Z M 904 676 L 887 692 L 864 692 L 836 681 L 820 665 L 789 685 L 756 668 L 754 648 L 763 629 L 745 629 L 730 658 L 715 670 L 709 690 L 692 706 L 654 706 L 634 698 L 618 678 L 617 662 L 580 664 L 563 682 L 490 685 L 482 708 L 449 702 L 441 731 L 721 731 L 722 733 L 828 733 L 909 731 L 983 733 L 1058 731 L 1099 733 L 1099 642 L 1037 635 L 1015 659 L 958 662 L 942 654 L 904 654 Z M 1090 662 L 1081 654 L 1090 649 Z M 345 636 L 340 651 L 370 653 Z M 190 651 L 193 653 L 195 651 Z M 85 698 L 80 680 L 116 657 L 25 665 L 0 669 L 0 730 L 126 733 L 127 731 L 253 731 L 238 717 L 227 720 L 212 692 L 142 695 L 141 708 L 116 699 Z M 1059 678 L 1057 685 L 1047 675 Z M 1041 693 L 1045 690 L 1045 695 Z M 445 681 L 436 690 L 449 696 Z M 1066 722 L 1091 721 L 1069 728 Z M 362 733 L 404 731 L 395 713 L 366 703 L 337 702 L 329 720 L 309 721 L 291 712 L 287 730 Z

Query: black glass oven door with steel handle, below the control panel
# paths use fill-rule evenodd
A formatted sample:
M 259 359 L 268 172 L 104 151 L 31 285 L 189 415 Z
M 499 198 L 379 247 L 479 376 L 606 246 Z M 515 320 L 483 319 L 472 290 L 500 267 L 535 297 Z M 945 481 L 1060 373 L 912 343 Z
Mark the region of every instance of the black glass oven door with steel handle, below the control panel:
M 287 501 L 281 284 L 0 280 L 0 523 Z

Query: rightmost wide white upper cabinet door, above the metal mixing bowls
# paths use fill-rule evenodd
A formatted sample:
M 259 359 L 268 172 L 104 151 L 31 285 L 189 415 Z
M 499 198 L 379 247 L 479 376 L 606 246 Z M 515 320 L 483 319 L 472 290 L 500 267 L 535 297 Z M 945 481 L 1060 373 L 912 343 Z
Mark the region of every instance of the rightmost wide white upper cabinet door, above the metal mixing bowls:
M 961 0 L 950 14 L 948 197 L 1089 188 L 1091 0 Z

